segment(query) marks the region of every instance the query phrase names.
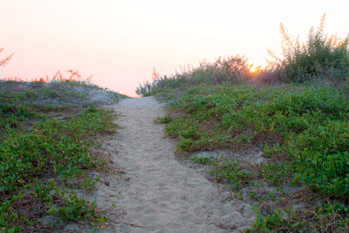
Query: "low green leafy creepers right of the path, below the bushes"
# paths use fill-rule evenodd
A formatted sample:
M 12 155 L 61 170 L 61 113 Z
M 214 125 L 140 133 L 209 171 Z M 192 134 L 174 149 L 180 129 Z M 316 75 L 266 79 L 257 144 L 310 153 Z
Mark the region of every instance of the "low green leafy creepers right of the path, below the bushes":
M 339 88 L 347 93 L 348 83 Z M 160 94 L 174 101 L 169 115 L 158 120 L 178 139 L 176 152 L 186 161 L 196 151 L 242 148 L 262 149 L 269 158 L 248 166 L 223 156 L 192 159 L 210 164 L 215 182 L 253 205 L 258 218 L 246 232 L 348 230 L 349 97 L 336 87 L 305 83 L 257 90 L 226 82 Z M 285 185 L 304 192 L 306 200 L 284 191 Z M 303 206 L 294 207 L 297 199 Z

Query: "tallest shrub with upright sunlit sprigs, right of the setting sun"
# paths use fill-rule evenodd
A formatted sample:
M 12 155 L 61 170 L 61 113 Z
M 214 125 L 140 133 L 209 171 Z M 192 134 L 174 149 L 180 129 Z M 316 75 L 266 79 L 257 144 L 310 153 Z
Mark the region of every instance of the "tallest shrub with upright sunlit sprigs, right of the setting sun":
M 349 35 L 345 39 L 338 38 L 336 34 L 328 37 L 324 34 L 324 25 L 325 14 L 318 30 L 311 27 L 306 43 L 300 46 L 299 36 L 296 40 L 291 40 L 292 36 L 280 23 L 283 58 L 277 58 L 268 50 L 275 61 L 268 61 L 269 66 L 260 77 L 270 77 L 272 73 L 284 82 L 300 82 L 327 72 L 331 73 L 332 78 L 344 79 L 349 72 Z

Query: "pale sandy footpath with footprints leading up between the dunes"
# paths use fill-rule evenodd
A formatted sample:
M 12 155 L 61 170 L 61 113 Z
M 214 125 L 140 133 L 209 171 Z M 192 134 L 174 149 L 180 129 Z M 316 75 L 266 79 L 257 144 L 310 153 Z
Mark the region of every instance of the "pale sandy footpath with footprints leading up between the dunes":
M 111 203 L 111 192 L 121 191 L 122 222 L 142 227 L 118 225 L 113 231 L 239 232 L 251 225 L 255 217 L 250 205 L 225 200 L 228 192 L 218 191 L 217 185 L 175 159 L 175 143 L 164 138 L 163 125 L 154 123 L 164 115 L 161 105 L 153 97 L 143 97 L 122 100 L 114 107 L 123 115 L 115 121 L 123 127 L 118 130 L 121 141 L 107 145 L 110 152 L 117 149 L 114 161 L 131 179 L 108 179 L 110 187 L 96 190 L 97 201 Z

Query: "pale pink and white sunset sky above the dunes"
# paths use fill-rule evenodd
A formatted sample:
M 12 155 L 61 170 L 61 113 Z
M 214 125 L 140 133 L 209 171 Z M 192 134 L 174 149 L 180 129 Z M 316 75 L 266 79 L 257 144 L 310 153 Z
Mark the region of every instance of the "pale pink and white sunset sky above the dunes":
M 344 38 L 349 1 L 0 0 L 2 78 L 35 79 L 79 70 L 82 77 L 135 96 L 138 82 L 206 58 L 246 55 L 265 65 L 281 56 L 280 22 L 306 41 L 309 29 Z M 68 74 L 66 74 L 69 77 Z

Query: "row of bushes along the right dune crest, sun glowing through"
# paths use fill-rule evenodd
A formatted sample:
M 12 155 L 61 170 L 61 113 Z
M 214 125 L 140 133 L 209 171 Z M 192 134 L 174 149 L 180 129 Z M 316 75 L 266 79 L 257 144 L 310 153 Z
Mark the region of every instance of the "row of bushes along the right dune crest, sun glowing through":
M 282 58 L 268 49 L 272 60 L 267 59 L 268 65 L 262 70 L 257 66 L 255 72 L 250 72 L 252 65 L 248 64 L 245 56 L 219 57 L 216 61 L 204 59 L 198 66 L 181 66 L 180 72 L 170 75 L 159 75 L 153 68 L 152 81 L 139 83 L 136 94 L 151 96 L 173 88 L 196 86 L 202 83 L 217 85 L 222 82 L 232 84 L 256 83 L 281 84 L 302 83 L 316 77 L 322 79 L 345 80 L 349 75 L 349 35 L 341 39 L 337 34 L 324 34 L 325 14 L 320 26 L 315 31 L 310 28 L 307 41 L 300 45 L 299 36 L 292 39 L 280 23 L 282 37 Z M 248 81 L 248 80 L 252 80 Z

